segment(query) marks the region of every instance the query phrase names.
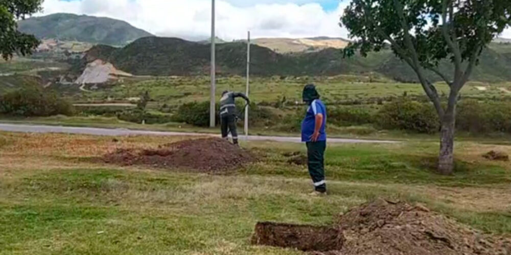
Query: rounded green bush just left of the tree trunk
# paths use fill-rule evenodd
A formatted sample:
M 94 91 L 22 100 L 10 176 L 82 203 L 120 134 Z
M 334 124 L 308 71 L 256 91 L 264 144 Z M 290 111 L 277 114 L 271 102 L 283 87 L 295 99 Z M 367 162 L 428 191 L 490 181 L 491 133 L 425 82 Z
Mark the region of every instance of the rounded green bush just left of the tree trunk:
M 383 129 L 419 133 L 437 132 L 439 125 L 438 116 L 430 104 L 422 104 L 406 98 L 384 105 L 377 113 L 375 122 Z

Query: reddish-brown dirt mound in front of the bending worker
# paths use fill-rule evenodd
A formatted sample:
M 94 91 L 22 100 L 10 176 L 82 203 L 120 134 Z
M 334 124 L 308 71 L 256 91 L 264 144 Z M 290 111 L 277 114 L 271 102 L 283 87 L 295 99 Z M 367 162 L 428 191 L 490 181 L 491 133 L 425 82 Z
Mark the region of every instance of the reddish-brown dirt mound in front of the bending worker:
M 184 140 L 157 149 L 118 149 L 103 157 L 106 163 L 187 168 L 198 172 L 221 172 L 255 161 L 250 152 L 219 138 Z

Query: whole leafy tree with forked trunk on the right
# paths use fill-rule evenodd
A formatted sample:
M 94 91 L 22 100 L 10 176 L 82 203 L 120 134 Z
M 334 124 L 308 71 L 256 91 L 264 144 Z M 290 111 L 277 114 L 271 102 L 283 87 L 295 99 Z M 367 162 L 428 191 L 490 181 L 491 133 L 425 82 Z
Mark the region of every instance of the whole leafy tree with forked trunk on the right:
M 353 0 L 340 25 L 354 42 L 345 56 L 367 56 L 388 47 L 416 73 L 440 119 L 438 170 L 453 173 L 454 122 L 460 89 L 478 64 L 481 51 L 511 24 L 509 0 Z M 448 60 L 454 71 L 440 71 Z M 449 85 L 447 104 L 425 72 Z

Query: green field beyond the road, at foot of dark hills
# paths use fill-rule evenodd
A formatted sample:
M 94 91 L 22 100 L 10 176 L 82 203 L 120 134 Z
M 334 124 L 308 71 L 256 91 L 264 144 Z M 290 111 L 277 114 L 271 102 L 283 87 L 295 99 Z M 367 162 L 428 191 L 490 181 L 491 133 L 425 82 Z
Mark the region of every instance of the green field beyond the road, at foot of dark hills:
M 301 103 L 301 90 L 308 83 L 315 83 L 323 99 L 332 105 L 342 104 L 348 101 L 360 100 L 360 104 L 375 103 L 374 99 L 398 97 L 404 94 L 409 96 L 423 97 L 424 91 L 419 84 L 396 83 L 388 80 L 371 80 L 370 77 L 341 75 L 333 78 L 253 78 L 250 85 L 250 98 L 255 103 L 274 104 L 285 97 L 286 105 L 293 106 Z M 461 91 L 462 96 L 473 98 L 511 98 L 511 84 L 497 83 L 470 83 Z M 221 91 L 234 90 L 245 91 L 245 79 L 242 77 L 219 78 L 217 82 L 217 94 Z M 447 85 L 438 84 L 439 94 L 448 94 Z M 207 77 L 196 78 L 153 78 L 126 80 L 123 85 L 106 86 L 94 92 L 83 93 L 77 91 L 72 96 L 77 101 L 103 101 L 107 98 L 115 100 L 127 100 L 127 98 L 140 96 L 149 91 L 153 100 L 153 107 L 179 106 L 190 101 L 205 101 L 210 95 L 210 80 Z

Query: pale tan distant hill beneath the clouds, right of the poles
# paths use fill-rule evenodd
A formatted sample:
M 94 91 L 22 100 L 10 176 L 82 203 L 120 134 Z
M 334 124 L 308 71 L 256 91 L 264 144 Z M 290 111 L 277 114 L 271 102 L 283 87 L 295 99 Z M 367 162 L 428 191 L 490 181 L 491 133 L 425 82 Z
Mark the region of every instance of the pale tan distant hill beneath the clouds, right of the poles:
M 342 38 L 314 37 L 314 38 L 258 38 L 254 44 L 267 47 L 277 53 L 318 52 L 326 48 L 344 48 L 349 43 Z

